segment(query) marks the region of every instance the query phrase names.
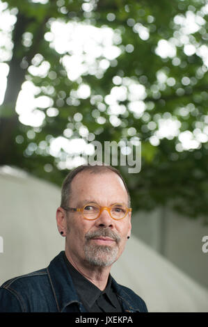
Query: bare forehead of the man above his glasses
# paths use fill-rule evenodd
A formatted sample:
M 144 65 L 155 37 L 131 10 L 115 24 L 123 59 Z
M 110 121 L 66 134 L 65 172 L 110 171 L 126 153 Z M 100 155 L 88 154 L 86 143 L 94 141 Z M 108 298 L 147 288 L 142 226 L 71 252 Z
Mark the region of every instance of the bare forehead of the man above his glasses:
M 70 202 L 76 203 L 89 199 L 103 205 L 115 202 L 127 204 L 128 196 L 120 176 L 113 172 L 78 173 L 71 184 Z

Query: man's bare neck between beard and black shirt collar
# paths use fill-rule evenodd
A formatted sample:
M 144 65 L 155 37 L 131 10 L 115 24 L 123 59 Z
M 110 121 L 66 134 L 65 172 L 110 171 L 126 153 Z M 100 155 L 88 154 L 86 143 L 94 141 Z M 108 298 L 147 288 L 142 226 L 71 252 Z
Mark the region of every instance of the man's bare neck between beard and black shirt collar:
M 111 266 L 92 266 L 87 262 L 83 264 L 79 262 L 77 258 L 73 257 L 73 255 L 71 255 L 66 248 L 65 255 L 70 264 L 72 264 L 72 266 L 74 266 L 74 268 L 77 269 L 82 276 L 90 280 L 90 282 L 97 286 L 101 291 L 106 288 Z

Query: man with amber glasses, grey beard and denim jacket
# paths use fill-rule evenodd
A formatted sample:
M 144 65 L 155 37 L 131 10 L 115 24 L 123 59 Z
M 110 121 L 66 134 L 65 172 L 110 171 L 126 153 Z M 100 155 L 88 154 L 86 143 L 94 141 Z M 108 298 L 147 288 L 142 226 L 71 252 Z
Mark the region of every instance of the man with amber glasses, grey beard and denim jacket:
M 142 298 L 110 274 L 130 237 L 129 207 L 129 191 L 115 168 L 72 170 L 56 212 L 65 251 L 46 269 L 4 282 L 0 312 L 147 312 Z

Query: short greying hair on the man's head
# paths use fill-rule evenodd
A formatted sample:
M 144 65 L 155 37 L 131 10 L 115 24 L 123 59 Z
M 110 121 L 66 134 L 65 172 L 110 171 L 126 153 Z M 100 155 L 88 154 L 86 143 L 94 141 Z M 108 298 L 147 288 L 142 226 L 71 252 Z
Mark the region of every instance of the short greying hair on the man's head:
M 94 174 L 106 173 L 108 171 L 112 171 L 113 173 L 116 173 L 121 178 L 123 184 L 125 185 L 125 189 L 127 190 L 127 195 L 128 195 L 128 206 L 130 207 L 131 198 L 129 195 L 129 190 L 127 189 L 127 184 L 125 183 L 125 180 L 123 179 L 122 175 L 120 175 L 120 171 L 110 165 L 106 165 L 105 163 L 97 163 L 95 166 L 90 166 L 90 164 L 81 165 L 70 171 L 67 177 L 65 177 L 65 180 L 63 181 L 62 184 L 61 207 L 64 208 L 68 206 L 70 195 L 72 193 L 71 190 L 72 180 L 78 173 L 80 173 L 83 170 L 89 171 L 90 173 L 94 173 Z

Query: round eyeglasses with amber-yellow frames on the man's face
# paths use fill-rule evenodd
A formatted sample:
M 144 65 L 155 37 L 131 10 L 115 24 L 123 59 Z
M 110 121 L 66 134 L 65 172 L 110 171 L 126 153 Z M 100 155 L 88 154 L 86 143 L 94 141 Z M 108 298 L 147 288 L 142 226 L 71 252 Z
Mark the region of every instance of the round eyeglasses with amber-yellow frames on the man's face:
M 70 208 L 70 207 L 63 207 L 66 211 L 74 211 L 74 212 L 81 212 L 83 218 L 88 219 L 88 221 L 95 221 L 103 210 L 107 210 L 111 216 L 111 218 L 119 221 L 120 219 L 125 218 L 128 212 L 131 212 L 132 209 L 122 205 L 120 203 L 115 203 L 115 205 L 111 205 L 111 207 L 99 207 L 95 203 L 88 203 L 84 205 L 83 208 Z

